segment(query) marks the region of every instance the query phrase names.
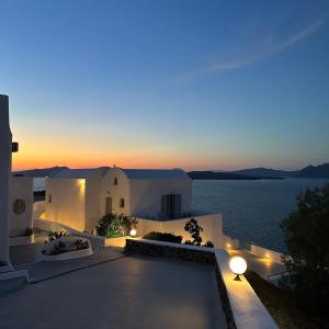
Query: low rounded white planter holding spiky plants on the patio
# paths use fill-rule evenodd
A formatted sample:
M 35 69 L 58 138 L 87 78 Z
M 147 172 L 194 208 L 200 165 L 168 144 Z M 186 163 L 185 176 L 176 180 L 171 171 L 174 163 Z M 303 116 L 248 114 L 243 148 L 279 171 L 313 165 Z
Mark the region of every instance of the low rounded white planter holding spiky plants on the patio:
M 46 252 L 52 250 L 54 248 L 54 245 L 58 243 L 59 241 L 63 241 L 66 243 L 72 243 L 77 240 L 82 240 L 82 242 L 88 241 L 89 247 L 87 249 L 66 251 L 66 252 L 63 252 L 59 254 L 41 253 L 39 260 L 60 261 L 60 260 L 69 260 L 69 259 L 82 258 L 82 257 L 93 254 L 89 240 L 84 239 L 84 238 L 77 238 L 77 237 L 63 237 L 63 238 L 53 240 L 48 243 L 45 243 L 43 250 L 46 250 Z

